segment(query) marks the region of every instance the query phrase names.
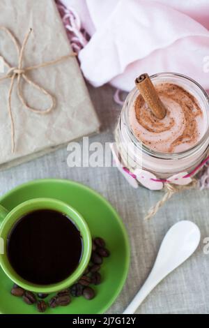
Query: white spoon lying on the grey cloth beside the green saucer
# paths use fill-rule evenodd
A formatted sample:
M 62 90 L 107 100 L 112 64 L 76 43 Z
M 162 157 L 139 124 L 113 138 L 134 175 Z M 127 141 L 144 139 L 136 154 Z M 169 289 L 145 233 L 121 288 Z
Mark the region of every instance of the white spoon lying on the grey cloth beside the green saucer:
M 193 222 L 174 224 L 162 241 L 150 275 L 123 314 L 133 314 L 151 290 L 194 253 L 200 238 L 200 230 Z

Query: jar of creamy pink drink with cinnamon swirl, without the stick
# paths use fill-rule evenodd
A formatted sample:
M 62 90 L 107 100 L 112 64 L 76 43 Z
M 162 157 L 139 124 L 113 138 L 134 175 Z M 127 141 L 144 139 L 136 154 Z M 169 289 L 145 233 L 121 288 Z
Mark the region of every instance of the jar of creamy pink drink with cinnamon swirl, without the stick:
M 157 119 L 135 87 L 116 127 L 119 156 L 130 172 L 142 168 L 159 179 L 192 172 L 208 154 L 208 95 L 185 75 L 159 73 L 150 79 L 167 115 Z

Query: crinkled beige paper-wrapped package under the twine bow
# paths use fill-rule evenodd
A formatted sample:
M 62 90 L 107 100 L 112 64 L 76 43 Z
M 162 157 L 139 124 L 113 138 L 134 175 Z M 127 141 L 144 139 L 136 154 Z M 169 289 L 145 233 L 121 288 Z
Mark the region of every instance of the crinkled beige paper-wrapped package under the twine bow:
M 33 29 L 24 52 L 23 66 L 52 61 L 72 52 L 53 0 L 0 0 L 0 13 L 0 25 L 13 31 L 20 44 L 26 32 Z M 0 54 L 12 66 L 17 66 L 18 57 L 14 45 L 2 32 Z M 5 73 L 0 73 L 0 77 Z M 16 143 L 13 154 L 7 109 L 10 81 L 1 82 L 0 168 L 46 154 L 72 140 L 95 133 L 100 126 L 77 59 L 72 57 L 28 74 L 33 81 L 55 96 L 56 107 L 47 115 L 29 112 L 20 102 L 15 84 L 11 99 Z M 31 106 L 41 110 L 49 106 L 49 99 L 36 89 L 23 84 L 22 90 Z

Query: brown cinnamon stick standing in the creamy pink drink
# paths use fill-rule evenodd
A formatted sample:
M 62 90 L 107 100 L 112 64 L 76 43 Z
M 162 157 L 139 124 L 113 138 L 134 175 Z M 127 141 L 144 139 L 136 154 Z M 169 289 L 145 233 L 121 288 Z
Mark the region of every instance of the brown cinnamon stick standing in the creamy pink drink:
M 141 74 L 135 80 L 135 84 L 155 117 L 157 119 L 164 119 L 167 114 L 166 107 L 160 100 L 149 75 L 147 73 Z

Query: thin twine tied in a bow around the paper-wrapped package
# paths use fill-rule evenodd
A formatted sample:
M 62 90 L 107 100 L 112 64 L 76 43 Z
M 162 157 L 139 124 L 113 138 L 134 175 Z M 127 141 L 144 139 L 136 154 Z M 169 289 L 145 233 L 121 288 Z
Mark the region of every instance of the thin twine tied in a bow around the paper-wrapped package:
M 41 114 L 41 115 L 49 114 L 49 112 L 51 112 L 53 110 L 53 108 L 55 106 L 55 103 L 56 103 L 54 96 L 52 96 L 52 94 L 50 94 L 43 87 L 40 87 L 39 84 L 33 82 L 26 75 L 26 73 L 28 73 L 30 70 L 36 70 L 38 68 L 43 68 L 43 67 L 46 67 L 46 66 L 51 66 L 51 65 L 57 64 L 61 61 L 64 61 L 64 60 L 70 58 L 70 57 L 76 56 L 77 54 L 75 52 L 72 52 L 72 54 L 67 54 L 66 56 L 59 57 L 58 59 L 55 59 L 53 61 L 47 61 L 45 63 L 38 64 L 36 66 L 30 66 L 30 67 L 24 68 L 23 65 L 22 65 L 22 61 L 23 61 L 23 57 L 24 57 L 24 50 L 25 50 L 25 47 L 26 47 L 26 43 L 29 40 L 29 36 L 31 34 L 32 29 L 30 29 L 29 32 L 24 37 L 24 41 L 22 43 L 22 46 L 19 45 L 19 43 L 17 42 L 15 36 L 13 35 L 13 33 L 9 29 L 7 29 L 6 27 L 1 27 L 0 26 L 0 30 L 5 31 L 8 34 L 9 38 L 13 41 L 13 44 L 15 45 L 15 48 L 17 50 L 17 56 L 18 56 L 18 65 L 17 65 L 17 67 L 13 67 L 8 63 L 8 61 L 6 61 L 6 59 L 4 57 L 2 57 L 0 55 L 0 58 L 3 60 L 4 66 L 6 66 L 8 68 L 8 71 L 7 71 L 6 75 L 4 75 L 3 77 L 0 78 L 0 82 L 3 81 L 3 80 L 8 80 L 8 79 L 11 80 L 10 88 L 9 88 L 9 91 L 8 91 L 8 114 L 10 116 L 10 121 L 11 121 L 11 142 L 12 142 L 12 152 L 14 153 L 14 151 L 15 151 L 15 122 L 14 122 L 14 119 L 13 119 L 13 112 L 12 112 L 12 107 L 11 107 L 11 96 L 12 96 L 12 93 L 13 93 L 15 78 L 17 77 L 17 94 L 20 98 L 20 101 L 22 102 L 22 105 L 24 105 L 24 107 L 26 107 L 31 112 L 35 112 L 36 114 Z M 49 105 L 49 107 L 46 110 L 39 110 L 37 108 L 33 108 L 28 103 L 26 103 L 26 100 L 24 98 L 24 94 L 22 92 L 22 83 L 21 83 L 22 79 L 26 83 L 29 83 L 34 88 L 38 89 L 40 92 L 42 92 L 42 94 L 45 94 L 46 96 L 49 97 L 49 99 L 51 100 L 50 101 L 51 104 Z

